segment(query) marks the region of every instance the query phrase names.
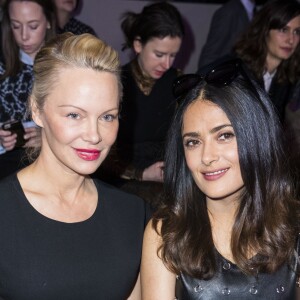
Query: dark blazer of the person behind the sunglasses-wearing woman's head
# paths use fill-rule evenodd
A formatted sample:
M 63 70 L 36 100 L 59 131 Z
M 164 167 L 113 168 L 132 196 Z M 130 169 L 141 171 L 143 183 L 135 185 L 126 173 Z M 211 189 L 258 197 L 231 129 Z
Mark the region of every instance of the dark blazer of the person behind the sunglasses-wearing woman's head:
M 214 13 L 198 69 L 229 54 L 250 20 L 240 0 L 229 0 Z

